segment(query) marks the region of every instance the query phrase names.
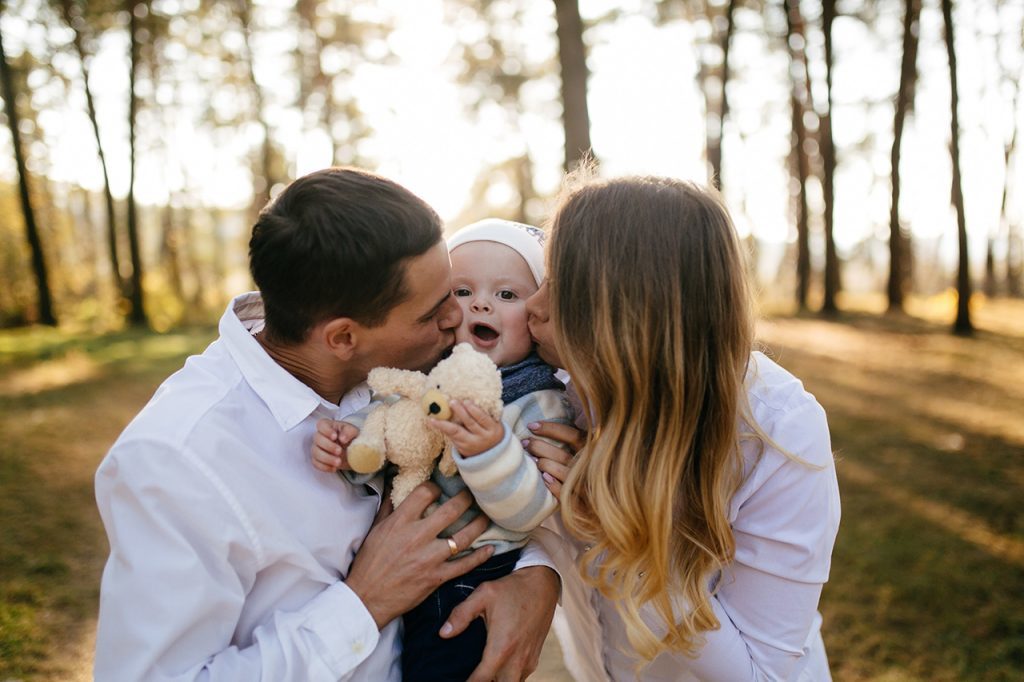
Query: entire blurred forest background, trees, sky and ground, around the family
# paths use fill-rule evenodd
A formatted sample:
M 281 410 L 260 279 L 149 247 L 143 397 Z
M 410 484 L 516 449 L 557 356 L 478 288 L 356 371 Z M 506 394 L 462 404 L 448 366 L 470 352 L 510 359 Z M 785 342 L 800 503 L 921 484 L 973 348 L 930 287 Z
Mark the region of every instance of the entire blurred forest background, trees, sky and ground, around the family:
M 0 679 L 90 679 L 92 474 L 275 193 L 542 223 L 586 155 L 721 188 L 828 412 L 836 679 L 1021 679 L 1022 74 L 1024 0 L 0 0 Z

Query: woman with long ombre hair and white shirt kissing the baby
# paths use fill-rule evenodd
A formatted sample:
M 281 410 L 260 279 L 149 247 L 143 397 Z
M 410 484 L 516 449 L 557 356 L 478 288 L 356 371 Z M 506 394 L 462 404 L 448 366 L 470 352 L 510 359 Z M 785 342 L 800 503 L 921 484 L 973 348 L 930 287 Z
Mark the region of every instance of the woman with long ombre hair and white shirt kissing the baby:
M 817 613 L 839 526 L 825 416 L 754 351 L 721 201 L 664 178 L 593 181 L 552 225 L 529 301 L 542 357 L 591 429 L 535 431 L 579 577 L 563 607 L 579 679 L 823 680 Z M 571 648 L 571 647 L 570 647 Z M 582 660 L 582 663 L 581 663 Z M 588 662 L 596 667 L 587 670 Z M 597 671 L 597 672 L 595 672 Z

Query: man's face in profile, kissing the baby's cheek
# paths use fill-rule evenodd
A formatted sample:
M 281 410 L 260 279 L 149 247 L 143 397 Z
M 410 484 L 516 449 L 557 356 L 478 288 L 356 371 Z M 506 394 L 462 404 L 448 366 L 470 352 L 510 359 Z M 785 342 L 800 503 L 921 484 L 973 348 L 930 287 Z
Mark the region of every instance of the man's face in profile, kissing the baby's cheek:
M 364 366 L 428 371 L 455 342 L 462 310 L 452 296 L 452 264 L 438 242 L 409 259 L 404 284 L 409 296 L 380 327 L 362 331 Z

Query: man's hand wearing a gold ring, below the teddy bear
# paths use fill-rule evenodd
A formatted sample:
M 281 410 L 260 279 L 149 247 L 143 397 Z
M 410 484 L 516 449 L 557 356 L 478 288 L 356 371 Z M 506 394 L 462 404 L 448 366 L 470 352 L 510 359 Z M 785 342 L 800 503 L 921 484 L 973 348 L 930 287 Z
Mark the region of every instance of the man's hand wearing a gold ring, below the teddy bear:
M 453 550 L 449 541 L 437 534 L 469 509 L 473 499 L 463 491 L 422 518 L 439 495 L 440 488 L 428 482 L 414 488 L 393 512 L 388 513 L 388 505 L 382 504 L 382 514 L 352 561 L 345 584 L 362 600 L 378 628 L 423 601 L 445 581 L 475 568 L 494 554 L 494 548 L 486 546 L 455 561 L 447 560 L 469 547 L 487 527 L 488 519 L 480 514 L 452 536 L 456 543 Z

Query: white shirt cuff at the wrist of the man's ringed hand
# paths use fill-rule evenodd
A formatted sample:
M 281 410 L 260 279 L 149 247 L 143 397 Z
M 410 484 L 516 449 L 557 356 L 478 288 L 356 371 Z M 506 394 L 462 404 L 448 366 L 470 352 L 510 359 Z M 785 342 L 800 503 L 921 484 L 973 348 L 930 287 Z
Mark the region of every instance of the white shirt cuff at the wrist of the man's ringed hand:
M 380 639 L 370 611 L 340 581 L 306 604 L 303 611 L 303 627 L 316 636 L 323 646 L 321 655 L 339 677 L 366 660 Z

